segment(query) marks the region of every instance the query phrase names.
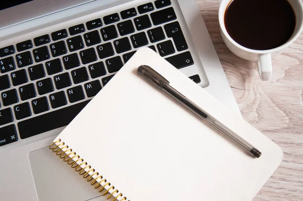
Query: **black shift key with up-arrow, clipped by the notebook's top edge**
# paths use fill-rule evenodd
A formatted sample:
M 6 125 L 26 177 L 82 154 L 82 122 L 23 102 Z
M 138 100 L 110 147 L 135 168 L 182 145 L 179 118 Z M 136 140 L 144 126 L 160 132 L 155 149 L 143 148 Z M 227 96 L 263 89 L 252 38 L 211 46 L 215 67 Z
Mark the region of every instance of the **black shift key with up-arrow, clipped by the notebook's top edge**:
M 179 55 L 166 58 L 166 60 L 177 69 L 193 65 L 193 59 L 190 52 L 181 53 Z

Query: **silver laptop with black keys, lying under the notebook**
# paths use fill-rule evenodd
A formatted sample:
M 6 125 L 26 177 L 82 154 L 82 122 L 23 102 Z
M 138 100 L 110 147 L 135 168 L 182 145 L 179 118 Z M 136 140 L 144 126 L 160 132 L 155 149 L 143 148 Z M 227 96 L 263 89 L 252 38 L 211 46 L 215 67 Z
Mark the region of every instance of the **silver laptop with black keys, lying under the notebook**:
M 240 115 L 194 0 L 5 1 L 0 19 L 2 200 L 104 200 L 47 146 L 141 47 Z

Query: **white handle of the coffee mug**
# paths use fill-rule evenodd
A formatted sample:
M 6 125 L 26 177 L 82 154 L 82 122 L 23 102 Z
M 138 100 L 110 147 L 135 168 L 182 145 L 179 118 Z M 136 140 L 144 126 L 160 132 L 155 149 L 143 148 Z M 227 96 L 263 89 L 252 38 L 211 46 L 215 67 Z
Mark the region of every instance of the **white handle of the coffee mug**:
M 260 55 L 259 60 L 257 61 L 257 67 L 261 80 L 263 81 L 270 80 L 273 71 L 271 54 Z

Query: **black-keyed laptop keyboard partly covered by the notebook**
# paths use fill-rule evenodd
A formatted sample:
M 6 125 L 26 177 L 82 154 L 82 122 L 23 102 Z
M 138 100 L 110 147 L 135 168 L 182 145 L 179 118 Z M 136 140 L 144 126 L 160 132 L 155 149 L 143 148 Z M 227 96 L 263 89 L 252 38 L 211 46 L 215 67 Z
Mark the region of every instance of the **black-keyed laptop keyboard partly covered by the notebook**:
M 0 48 L 0 146 L 68 125 L 87 97 L 96 95 L 135 54 L 134 48 L 143 46 L 177 69 L 193 65 L 169 0 Z M 200 82 L 198 75 L 191 79 Z

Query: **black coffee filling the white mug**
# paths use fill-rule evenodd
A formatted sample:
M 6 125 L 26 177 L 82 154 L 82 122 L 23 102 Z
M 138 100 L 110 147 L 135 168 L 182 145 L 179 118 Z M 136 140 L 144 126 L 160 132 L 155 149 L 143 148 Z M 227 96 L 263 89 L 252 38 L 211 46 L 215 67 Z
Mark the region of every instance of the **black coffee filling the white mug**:
M 284 44 L 292 35 L 295 15 L 287 0 L 234 0 L 224 16 L 228 34 L 257 50 Z

